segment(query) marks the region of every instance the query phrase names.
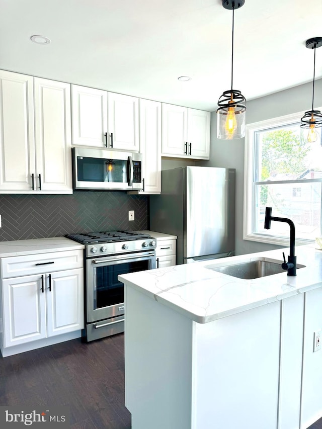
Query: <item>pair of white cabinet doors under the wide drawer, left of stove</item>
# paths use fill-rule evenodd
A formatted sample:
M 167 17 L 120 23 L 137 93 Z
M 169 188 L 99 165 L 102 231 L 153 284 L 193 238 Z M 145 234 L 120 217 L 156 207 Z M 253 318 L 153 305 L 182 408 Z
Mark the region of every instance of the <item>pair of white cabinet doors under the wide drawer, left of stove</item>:
M 83 269 L 2 282 L 4 346 L 84 328 Z

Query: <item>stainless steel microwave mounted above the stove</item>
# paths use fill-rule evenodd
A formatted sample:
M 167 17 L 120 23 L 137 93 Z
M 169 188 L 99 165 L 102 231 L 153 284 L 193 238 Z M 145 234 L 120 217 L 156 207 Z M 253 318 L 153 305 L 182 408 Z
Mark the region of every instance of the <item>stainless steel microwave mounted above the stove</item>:
M 76 146 L 71 153 L 74 190 L 143 189 L 140 153 Z

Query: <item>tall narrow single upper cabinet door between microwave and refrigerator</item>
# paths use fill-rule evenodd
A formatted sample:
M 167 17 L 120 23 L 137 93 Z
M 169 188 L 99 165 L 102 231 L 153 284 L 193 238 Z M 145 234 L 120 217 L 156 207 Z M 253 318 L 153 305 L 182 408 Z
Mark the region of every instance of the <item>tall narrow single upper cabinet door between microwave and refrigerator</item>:
M 161 103 L 140 99 L 140 153 L 144 191 L 161 192 Z

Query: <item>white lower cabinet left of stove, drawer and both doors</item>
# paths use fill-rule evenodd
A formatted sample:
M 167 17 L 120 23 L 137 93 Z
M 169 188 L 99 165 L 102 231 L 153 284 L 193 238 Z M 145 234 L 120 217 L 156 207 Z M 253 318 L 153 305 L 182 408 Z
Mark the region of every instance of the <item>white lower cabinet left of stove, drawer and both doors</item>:
M 82 250 L 2 258 L 1 268 L 2 352 L 84 328 Z

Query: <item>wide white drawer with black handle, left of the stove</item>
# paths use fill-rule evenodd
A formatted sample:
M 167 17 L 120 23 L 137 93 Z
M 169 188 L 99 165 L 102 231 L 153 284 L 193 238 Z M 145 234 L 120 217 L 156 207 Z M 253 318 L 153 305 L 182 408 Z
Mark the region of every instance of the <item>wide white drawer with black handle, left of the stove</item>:
M 83 268 L 83 250 L 65 250 L 1 258 L 1 277 L 3 279 L 74 268 Z

